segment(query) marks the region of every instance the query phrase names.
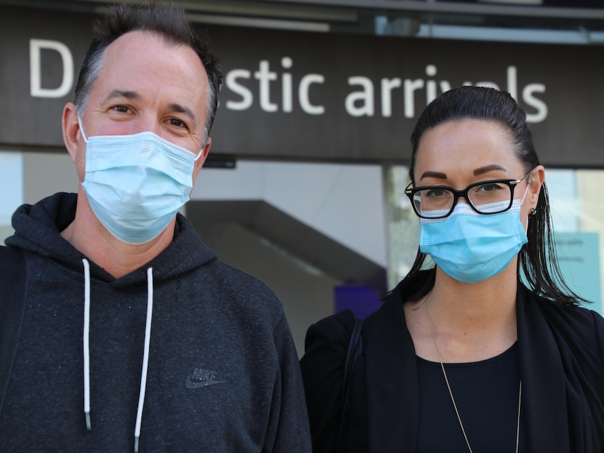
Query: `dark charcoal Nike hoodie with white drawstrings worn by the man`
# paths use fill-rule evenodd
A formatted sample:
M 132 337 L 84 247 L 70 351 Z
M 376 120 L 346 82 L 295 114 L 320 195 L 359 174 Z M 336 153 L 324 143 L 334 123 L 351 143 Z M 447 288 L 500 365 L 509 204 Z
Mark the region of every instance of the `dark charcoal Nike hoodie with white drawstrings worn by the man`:
M 6 244 L 25 252 L 27 292 L 1 451 L 131 452 L 139 430 L 141 452 L 310 452 L 272 291 L 180 215 L 165 251 L 115 279 L 60 236 L 75 207 L 60 193 L 13 215 Z

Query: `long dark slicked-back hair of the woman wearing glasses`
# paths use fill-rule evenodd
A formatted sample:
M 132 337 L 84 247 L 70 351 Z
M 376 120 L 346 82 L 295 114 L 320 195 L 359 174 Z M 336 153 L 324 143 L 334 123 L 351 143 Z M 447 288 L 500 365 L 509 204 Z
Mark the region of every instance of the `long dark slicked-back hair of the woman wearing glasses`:
M 465 119 L 495 121 L 504 125 L 512 138 L 516 155 L 523 162 L 525 172 L 530 172 L 540 164 L 533 145 L 533 134 L 526 125 L 526 114 L 514 98 L 508 92 L 493 88 L 464 86 L 449 90 L 428 104 L 413 129 L 409 176 L 414 185 L 413 172 L 418 147 L 425 132 L 448 121 Z M 526 235 L 528 243 L 519 252 L 519 272 L 523 272 L 533 293 L 565 305 L 586 302 L 565 284 L 558 267 L 545 184 L 537 200 L 537 213 L 529 218 Z M 417 274 L 425 258 L 425 253 L 418 250 L 415 263 L 406 277 Z

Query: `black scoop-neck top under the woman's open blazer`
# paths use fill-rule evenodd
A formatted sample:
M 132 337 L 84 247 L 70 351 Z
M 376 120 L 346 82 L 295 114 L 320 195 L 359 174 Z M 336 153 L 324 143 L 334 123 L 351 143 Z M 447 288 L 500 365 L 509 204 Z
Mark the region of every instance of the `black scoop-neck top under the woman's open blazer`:
M 453 398 L 474 452 L 516 452 L 520 371 L 516 343 L 504 353 L 473 363 L 445 363 Z M 468 453 L 441 364 L 418 357 L 420 414 L 418 453 Z M 526 452 L 521 426 L 519 452 Z

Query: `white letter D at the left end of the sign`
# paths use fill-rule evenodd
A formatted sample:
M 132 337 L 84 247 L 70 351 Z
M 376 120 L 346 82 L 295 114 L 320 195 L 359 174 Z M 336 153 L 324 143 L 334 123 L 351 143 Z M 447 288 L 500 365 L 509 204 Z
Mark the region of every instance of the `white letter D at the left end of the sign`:
M 41 49 L 56 50 L 63 62 L 63 78 L 59 88 L 42 88 Z M 29 40 L 29 83 L 32 97 L 63 97 L 74 84 L 74 57 L 69 48 L 59 41 Z

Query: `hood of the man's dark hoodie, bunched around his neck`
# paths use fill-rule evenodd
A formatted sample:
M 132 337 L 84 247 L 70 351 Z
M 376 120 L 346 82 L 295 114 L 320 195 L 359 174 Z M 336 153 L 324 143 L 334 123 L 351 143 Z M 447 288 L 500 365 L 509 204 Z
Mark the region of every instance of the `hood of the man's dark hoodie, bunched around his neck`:
M 13 214 L 15 235 L 6 239 L 6 245 L 57 261 L 81 275 L 82 260 L 87 257 L 60 235 L 74 221 L 76 203 L 76 194 L 57 193 L 36 204 L 22 204 Z M 216 253 L 200 241 L 193 225 L 184 216 L 177 214 L 172 243 L 151 262 L 115 279 L 89 260 L 90 277 L 106 281 L 114 288 L 132 288 L 146 286 L 146 270 L 149 267 L 153 267 L 153 280 L 159 283 L 191 272 L 216 259 Z

